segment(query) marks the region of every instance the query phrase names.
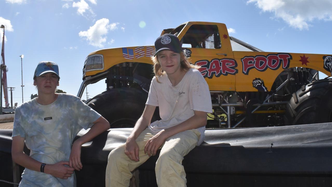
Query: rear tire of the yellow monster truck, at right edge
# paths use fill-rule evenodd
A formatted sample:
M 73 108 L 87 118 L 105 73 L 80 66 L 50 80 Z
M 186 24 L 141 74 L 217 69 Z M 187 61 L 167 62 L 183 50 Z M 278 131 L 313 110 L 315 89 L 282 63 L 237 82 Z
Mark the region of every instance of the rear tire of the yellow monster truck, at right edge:
M 286 125 L 332 122 L 332 79 L 302 86 L 287 105 Z

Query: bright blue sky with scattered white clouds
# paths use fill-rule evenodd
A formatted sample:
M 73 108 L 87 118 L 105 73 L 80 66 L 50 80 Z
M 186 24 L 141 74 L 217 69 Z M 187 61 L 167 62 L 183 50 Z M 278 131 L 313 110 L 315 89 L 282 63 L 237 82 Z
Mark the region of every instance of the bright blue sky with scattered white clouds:
M 187 21 L 225 23 L 230 36 L 264 51 L 332 53 L 331 0 L 1 0 L 0 7 L 7 82 L 18 104 L 21 54 L 24 101 L 37 93 L 33 74 L 43 60 L 59 65 L 58 88 L 76 95 L 90 52 L 153 45 L 163 29 Z M 103 81 L 89 85 L 89 98 L 105 89 Z

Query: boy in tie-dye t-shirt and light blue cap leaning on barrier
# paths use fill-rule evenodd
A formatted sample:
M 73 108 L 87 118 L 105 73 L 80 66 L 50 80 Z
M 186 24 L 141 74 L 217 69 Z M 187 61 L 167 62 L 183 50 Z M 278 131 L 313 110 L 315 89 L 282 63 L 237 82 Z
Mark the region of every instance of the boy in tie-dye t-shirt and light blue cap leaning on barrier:
M 58 65 L 41 61 L 34 74 L 38 97 L 15 110 L 12 158 L 25 167 L 20 187 L 76 186 L 74 170 L 83 167 L 81 145 L 110 128 L 80 98 L 55 93 L 59 79 Z M 73 142 L 83 128 L 91 129 Z M 30 156 L 23 152 L 24 143 Z

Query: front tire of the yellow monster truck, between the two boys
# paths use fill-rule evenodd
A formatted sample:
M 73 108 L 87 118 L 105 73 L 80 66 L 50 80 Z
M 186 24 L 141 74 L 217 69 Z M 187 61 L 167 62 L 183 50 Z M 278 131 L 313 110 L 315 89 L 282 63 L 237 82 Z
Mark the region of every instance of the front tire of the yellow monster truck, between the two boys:
M 92 98 L 87 105 L 101 114 L 111 128 L 132 128 L 142 115 L 148 94 L 135 88 L 115 88 Z M 159 120 L 158 107 L 152 122 Z

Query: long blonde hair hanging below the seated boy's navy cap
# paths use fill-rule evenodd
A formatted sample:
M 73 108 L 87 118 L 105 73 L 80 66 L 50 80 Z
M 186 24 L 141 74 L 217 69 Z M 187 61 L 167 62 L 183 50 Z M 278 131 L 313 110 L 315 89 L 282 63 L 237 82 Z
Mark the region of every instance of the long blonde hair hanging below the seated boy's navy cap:
M 158 78 L 161 75 L 164 75 L 166 72 L 161 68 L 160 62 L 158 61 L 158 55 L 152 56 L 151 60 L 153 61 L 153 72 L 156 80 L 159 82 Z M 182 71 L 188 71 L 191 68 L 198 69 L 200 68 L 199 65 L 194 65 L 190 62 L 189 58 L 187 58 L 183 51 L 180 52 L 180 68 Z

